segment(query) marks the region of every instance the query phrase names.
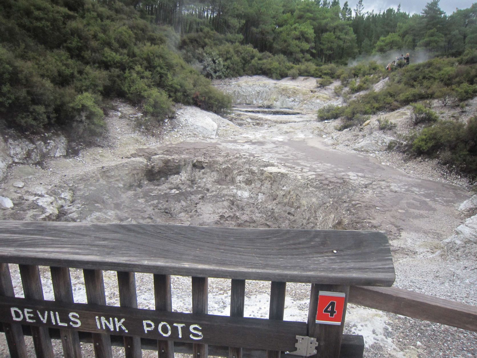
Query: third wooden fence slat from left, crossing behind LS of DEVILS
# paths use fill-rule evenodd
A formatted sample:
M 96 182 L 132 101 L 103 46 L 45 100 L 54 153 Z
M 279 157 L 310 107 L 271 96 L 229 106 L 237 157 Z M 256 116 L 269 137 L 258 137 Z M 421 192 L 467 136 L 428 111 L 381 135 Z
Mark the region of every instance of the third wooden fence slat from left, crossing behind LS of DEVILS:
M 55 301 L 73 303 L 73 288 L 68 267 L 50 267 Z M 81 345 L 78 332 L 60 329 L 63 353 L 65 357 L 81 358 Z

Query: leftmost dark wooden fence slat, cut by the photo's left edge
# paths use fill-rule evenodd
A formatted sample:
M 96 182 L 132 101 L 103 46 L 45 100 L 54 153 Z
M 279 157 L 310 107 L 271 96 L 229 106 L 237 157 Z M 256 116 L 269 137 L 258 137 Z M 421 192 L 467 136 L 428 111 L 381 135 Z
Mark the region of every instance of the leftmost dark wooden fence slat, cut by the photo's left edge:
M 0 263 L 0 297 L 15 297 L 8 263 Z M 3 324 L 11 358 L 28 358 L 25 338 L 19 324 Z

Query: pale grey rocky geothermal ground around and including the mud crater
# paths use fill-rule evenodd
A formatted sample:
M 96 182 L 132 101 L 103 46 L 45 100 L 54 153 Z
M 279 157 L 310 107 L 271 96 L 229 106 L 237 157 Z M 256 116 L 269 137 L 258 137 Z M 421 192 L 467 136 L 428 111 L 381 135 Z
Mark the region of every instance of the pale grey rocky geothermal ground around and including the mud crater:
M 342 103 L 336 84 L 317 89 L 313 78 L 260 76 L 218 81 L 236 103 L 227 117 L 179 106 L 176 118 L 148 129 L 137 108 L 116 102 L 106 135 L 74 155 L 66 155 L 59 134 L 26 140 L 6 133 L 0 218 L 383 230 L 396 286 L 477 305 L 477 200 L 466 180 L 433 160 L 388 150 L 412 129 L 407 107 L 342 132 L 335 129 L 339 120 L 316 121 L 321 105 Z M 434 106 L 460 120 L 477 107 L 475 100 L 464 113 Z M 379 130 L 382 118 L 395 128 Z M 18 270 L 11 270 L 21 296 Z M 48 270 L 41 273 L 52 298 Z M 72 276 L 75 301 L 85 302 L 81 271 Z M 137 275 L 141 307 L 151 308 L 151 279 Z M 105 272 L 105 282 L 108 304 L 117 304 L 115 274 Z M 269 291 L 270 284 L 248 282 L 246 316 L 268 316 Z M 174 309 L 190 312 L 190 279 L 174 277 L 173 293 Z M 287 286 L 285 319 L 306 320 L 308 295 L 306 284 Z M 227 315 L 229 296 L 228 280 L 211 280 L 209 312 Z M 477 356 L 475 333 L 355 305 L 345 329 L 364 336 L 365 357 Z M 90 345 L 83 348 L 90 356 Z M 61 356 L 61 344 L 55 349 Z M 0 357 L 8 357 L 4 342 Z

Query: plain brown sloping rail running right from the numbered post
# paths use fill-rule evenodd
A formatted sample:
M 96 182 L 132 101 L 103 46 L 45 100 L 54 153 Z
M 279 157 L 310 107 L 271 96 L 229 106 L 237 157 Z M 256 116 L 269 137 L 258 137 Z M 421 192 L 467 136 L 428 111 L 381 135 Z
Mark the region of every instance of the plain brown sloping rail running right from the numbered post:
M 477 332 L 477 307 L 396 287 L 350 288 L 349 302 Z

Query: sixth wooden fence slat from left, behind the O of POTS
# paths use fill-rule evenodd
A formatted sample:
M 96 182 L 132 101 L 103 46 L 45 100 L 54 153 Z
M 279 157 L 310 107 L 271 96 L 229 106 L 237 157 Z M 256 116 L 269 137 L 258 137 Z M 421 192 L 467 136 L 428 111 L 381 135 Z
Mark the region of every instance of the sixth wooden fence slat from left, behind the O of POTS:
M 154 275 L 154 297 L 157 311 L 172 312 L 172 292 L 170 275 Z M 174 342 L 160 339 L 157 341 L 159 358 L 174 358 Z

